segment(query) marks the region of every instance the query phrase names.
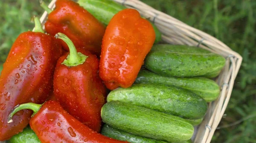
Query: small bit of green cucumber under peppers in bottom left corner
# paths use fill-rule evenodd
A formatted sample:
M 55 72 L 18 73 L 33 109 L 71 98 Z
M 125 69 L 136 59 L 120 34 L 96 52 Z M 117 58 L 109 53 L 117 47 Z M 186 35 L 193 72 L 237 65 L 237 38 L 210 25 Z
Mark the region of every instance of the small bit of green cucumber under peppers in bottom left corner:
M 8 143 L 41 143 L 41 141 L 30 127 L 26 127 L 22 132 L 8 140 Z

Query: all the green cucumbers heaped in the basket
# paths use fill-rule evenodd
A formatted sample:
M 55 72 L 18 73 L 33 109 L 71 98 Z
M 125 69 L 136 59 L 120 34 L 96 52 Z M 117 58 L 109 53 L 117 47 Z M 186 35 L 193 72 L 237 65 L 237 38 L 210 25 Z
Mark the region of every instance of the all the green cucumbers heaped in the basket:
M 80 6 L 103 24 L 124 6 L 112 0 L 79 0 Z M 218 98 L 220 89 L 212 80 L 224 67 L 224 57 L 186 45 L 157 44 L 156 41 L 132 87 L 111 91 L 102 107 L 101 134 L 130 143 L 191 143 L 194 126 L 203 121 L 207 102 Z M 12 137 L 20 142 L 26 128 Z M 32 142 L 39 143 L 38 138 Z

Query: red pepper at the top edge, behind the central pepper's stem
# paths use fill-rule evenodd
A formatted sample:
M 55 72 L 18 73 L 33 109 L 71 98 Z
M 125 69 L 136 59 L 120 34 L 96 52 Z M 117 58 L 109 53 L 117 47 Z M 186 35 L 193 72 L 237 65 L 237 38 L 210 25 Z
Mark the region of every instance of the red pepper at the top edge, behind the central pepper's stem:
M 49 11 L 45 23 L 47 33 L 55 35 L 61 32 L 67 35 L 77 48 L 100 55 L 105 26 L 72 0 L 57 0 L 55 5 L 55 10 Z M 69 50 L 67 44 L 61 42 L 64 49 Z

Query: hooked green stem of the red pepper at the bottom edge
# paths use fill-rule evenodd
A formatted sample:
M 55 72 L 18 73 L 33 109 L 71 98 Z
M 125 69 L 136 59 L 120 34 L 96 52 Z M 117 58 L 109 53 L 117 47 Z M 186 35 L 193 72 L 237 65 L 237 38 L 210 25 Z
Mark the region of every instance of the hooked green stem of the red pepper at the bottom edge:
M 18 111 L 23 110 L 23 109 L 31 109 L 34 112 L 31 116 L 31 117 L 33 117 L 38 112 L 38 110 L 41 108 L 41 106 L 42 105 L 35 104 L 35 103 L 25 103 L 25 104 L 18 105 L 16 107 L 14 107 L 14 109 L 12 109 L 11 113 L 8 116 L 8 122 L 7 123 L 12 123 L 13 122 L 12 116 L 15 113 L 17 113 Z

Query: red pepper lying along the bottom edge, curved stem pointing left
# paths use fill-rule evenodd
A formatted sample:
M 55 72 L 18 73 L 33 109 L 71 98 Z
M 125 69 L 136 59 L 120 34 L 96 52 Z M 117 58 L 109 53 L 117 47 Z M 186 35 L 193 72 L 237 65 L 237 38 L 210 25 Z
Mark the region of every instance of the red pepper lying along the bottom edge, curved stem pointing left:
M 32 107 L 30 109 L 33 109 L 35 115 L 29 124 L 42 143 L 128 143 L 93 131 L 68 114 L 56 101 L 47 101 L 42 106 L 29 104 L 20 105 L 16 109 Z

